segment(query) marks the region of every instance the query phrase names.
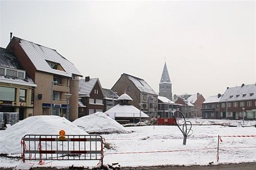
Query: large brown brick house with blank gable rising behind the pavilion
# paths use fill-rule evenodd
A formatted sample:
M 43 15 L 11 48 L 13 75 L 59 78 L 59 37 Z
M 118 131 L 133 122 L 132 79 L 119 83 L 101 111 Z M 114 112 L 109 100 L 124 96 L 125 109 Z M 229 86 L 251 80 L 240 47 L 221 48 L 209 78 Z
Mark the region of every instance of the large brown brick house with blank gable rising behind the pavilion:
M 111 89 L 118 94 L 126 93 L 130 104 L 153 118 L 157 112 L 158 94 L 141 78 L 123 73 Z M 149 106 L 149 107 L 148 107 Z

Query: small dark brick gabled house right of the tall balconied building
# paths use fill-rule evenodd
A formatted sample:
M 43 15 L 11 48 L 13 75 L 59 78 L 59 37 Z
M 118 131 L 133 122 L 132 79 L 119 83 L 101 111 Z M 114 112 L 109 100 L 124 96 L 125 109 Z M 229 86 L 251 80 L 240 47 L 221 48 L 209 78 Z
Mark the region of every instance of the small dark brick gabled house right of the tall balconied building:
M 104 92 L 98 78 L 79 80 L 79 98 L 86 107 L 79 107 L 79 117 L 104 112 Z

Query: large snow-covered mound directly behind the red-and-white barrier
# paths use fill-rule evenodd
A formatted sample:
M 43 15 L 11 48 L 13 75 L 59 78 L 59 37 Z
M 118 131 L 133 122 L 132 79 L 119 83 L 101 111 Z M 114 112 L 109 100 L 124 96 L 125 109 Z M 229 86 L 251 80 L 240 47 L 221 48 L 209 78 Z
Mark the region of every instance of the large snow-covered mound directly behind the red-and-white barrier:
M 0 154 L 20 154 L 20 141 L 26 134 L 59 135 L 63 129 L 66 135 L 87 133 L 72 122 L 59 116 L 28 117 L 0 133 Z

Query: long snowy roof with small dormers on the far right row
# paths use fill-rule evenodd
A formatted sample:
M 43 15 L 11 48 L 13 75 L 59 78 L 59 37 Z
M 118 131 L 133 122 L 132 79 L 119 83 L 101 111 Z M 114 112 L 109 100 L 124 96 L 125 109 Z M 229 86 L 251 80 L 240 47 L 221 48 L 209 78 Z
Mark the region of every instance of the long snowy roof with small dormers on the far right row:
M 256 84 L 242 84 L 238 87 L 229 87 L 221 97 L 223 101 L 251 100 L 256 99 Z

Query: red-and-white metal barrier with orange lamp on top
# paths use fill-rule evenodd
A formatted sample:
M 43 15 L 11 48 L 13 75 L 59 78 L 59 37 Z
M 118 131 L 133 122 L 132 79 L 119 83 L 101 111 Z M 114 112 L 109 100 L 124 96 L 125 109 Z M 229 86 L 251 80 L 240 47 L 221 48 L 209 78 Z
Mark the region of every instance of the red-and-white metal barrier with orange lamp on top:
M 100 135 L 27 134 L 21 141 L 22 159 L 100 160 L 103 164 L 103 139 Z

